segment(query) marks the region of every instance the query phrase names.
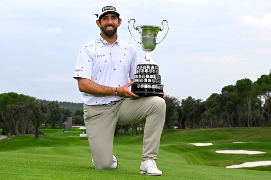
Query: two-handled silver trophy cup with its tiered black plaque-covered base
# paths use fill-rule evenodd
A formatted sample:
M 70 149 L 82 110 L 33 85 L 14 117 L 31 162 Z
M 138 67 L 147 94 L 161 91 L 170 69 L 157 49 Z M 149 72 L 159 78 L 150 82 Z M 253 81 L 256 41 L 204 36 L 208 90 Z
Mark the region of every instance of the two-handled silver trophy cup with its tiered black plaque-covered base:
M 138 30 L 140 33 L 140 42 L 138 42 L 130 30 L 130 22 L 134 20 L 133 27 L 135 30 Z M 142 60 L 136 66 L 136 74 L 134 74 L 134 84 L 132 85 L 131 91 L 134 94 L 144 96 L 163 96 L 163 86 L 161 85 L 161 76 L 159 73 L 159 66 L 155 63 L 155 61 L 151 57 L 151 52 L 155 50 L 156 44 L 162 42 L 162 40 L 156 43 L 157 33 L 164 29 L 163 22 L 167 23 L 167 31 L 162 38 L 165 38 L 169 25 L 167 20 L 162 20 L 162 28 L 158 26 L 144 25 L 135 27 L 136 20 L 130 19 L 128 21 L 128 29 L 130 34 L 134 38 L 136 42 L 141 44 L 141 49 L 146 52 L 145 59 Z

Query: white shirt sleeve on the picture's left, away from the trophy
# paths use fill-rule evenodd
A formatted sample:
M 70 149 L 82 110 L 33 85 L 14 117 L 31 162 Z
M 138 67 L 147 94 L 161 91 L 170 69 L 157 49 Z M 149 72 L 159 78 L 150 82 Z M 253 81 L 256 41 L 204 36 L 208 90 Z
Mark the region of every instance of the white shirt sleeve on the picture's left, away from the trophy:
M 93 64 L 91 53 L 86 48 L 81 48 L 76 63 L 74 78 L 77 79 L 80 77 L 91 80 Z

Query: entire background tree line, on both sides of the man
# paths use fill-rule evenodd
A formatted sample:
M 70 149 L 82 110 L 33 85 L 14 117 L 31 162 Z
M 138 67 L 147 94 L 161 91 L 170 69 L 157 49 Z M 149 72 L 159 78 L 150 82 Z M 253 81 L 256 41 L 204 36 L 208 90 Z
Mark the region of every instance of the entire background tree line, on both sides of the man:
M 271 73 L 257 81 L 241 79 L 235 85 L 222 88 L 221 93 L 211 94 L 205 101 L 189 96 L 179 101 L 167 96 L 164 129 L 191 129 L 196 127 L 251 127 L 270 126 Z M 74 125 L 84 125 L 81 103 L 38 100 L 15 92 L 0 94 L 0 129 L 3 134 L 42 134 L 45 128 L 61 128 L 66 117 L 73 117 Z M 80 109 L 78 109 L 80 107 Z M 70 110 L 72 108 L 74 113 Z M 117 125 L 115 136 L 143 134 L 145 120 L 136 124 Z M 130 130 L 130 131 L 129 131 Z M 130 134 L 129 134 L 130 133 Z

